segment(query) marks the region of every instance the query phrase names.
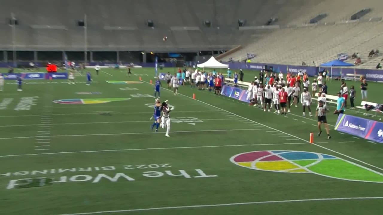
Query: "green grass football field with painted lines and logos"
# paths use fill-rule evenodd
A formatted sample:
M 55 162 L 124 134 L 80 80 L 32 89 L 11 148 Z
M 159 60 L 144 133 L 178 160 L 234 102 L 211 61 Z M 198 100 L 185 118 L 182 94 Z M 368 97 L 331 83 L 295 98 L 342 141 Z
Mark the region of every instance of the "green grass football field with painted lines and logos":
M 332 138 L 310 144 L 316 119 L 301 107 L 281 116 L 189 86 L 177 96 L 163 88 L 161 100 L 175 107 L 165 137 L 150 130 L 154 69 L 101 71 L 91 70 L 91 86 L 82 76 L 76 85 L 25 81 L 23 92 L 6 82 L 2 214 L 382 213 L 383 145 L 332 130 L 336 116 L 328 116 Z M 246 80 L 258 74 L 250 73 Z M 369 100 L 382 103 L 382 85 L 368 84 Z M 335 94 L 340 83 L 328 85 Z M 86 92 L 97 93 L 77 94 Z M 60 104 L 79 102 L 87 104 Z

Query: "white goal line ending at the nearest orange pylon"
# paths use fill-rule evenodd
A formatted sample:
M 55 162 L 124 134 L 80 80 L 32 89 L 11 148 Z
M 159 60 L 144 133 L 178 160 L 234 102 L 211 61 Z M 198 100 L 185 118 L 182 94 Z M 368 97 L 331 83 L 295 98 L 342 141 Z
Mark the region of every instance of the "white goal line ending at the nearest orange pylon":
M 128 148 L 128 149 L 94 150 L 94 151 L 61 151 L 61 152 L 38 153 L 38 154 L 0 155 L 0 158 L 16 157 L 16 156 L 71 154 L 71 153 L 97 153 L 97 152 L 106 152 L 106 151 L 144 151 L 144 150 L 167 150 L 167 149 L 185 149 L 185 148 L 219 148 L 219 147 L 264 146 L 264 145 L 295 145 L 295 144 L 299 145 L 299 144 L 307 144 L 307 143 L 265 143 L 265 144 L 210 145 L 210 146 L 190 146 L 190 147 Z

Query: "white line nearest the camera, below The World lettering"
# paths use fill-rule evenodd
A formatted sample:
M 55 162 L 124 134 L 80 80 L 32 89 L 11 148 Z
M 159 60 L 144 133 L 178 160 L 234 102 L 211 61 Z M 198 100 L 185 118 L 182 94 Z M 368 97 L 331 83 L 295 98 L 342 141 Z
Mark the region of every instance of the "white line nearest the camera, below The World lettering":
M 149 211 L 149 210 L 155 211 L 155 210 L 172 210 L 172 209 L 205 208 L 205 207 L 227 207 L 227 206 L 238 206 L 238 205 L 260 205 L 260 204 L 276 204 L 276 203 L 280 204 L 280 203 L 291 203 L 291 202 L 320 202 L 320 201 L 366 200 L 366 199 L 383 199 L 383 196 L 340 197 L 340 198 L 322 198 L 322 199 L 291 199 L 291 200 L 276 200 L 276 201 L 262 201 L 262 202 L 236 202 L 236 203 L 210 204 L 210 205 L 183 205 L 183 206 L 173 206 L 173 207 L 152 207 L 152 208 L 137 208 L 137 209 L 126 209 L 126 210 L 95 211 L 95 212 L 84 212 L 84 213 L 65 213 L 65 214 L 57 214 L 57 215 L 89 215 L 89 214 L 105 214 L 105 213 L 126 213 L 126 212 Z M 180 212 L 180 214 L 182 214 L 182 212 Z

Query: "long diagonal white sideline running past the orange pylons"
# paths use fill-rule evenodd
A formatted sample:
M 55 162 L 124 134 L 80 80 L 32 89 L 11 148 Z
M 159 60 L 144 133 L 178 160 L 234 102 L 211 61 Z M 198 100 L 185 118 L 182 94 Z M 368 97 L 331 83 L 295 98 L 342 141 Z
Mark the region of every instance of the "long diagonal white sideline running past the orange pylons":
M 148 82 L 146 82 L 146 81 L 142 81 L 142 82 L 148 83 Z M 149 83 L 148 83 L 148 84 L 149 84 Z M 166 89 L 166 88 L 162 88 L 162 89 L 164 89 L 164 90 L 168 90 L 168 91 L 172 92 L 171 90 L 169 90 L 169 89 Z M 187 97 L 187 98 L 190 98 L 190 99 L 193 99 L 192 97 L 190 97 L 190 96 L 186 96 L 186 95 L 184 95 L 184 94 L 181 94 L 181 93 L 178 93 L 178 95 L 180 95 L 180 96 L 184 96 L 184 97 Z M 206 102 L 203 102 L 203 101 L 200 101 L 200 100 L 196 100 L 196 99 L 193 99 L 193 101 L 197 101 L 197 102 L 200 102 L 200 103 L 206 104 L 206 105 L 208 105 L 208 106 L 210 106 L 210 107 L 213 107 L 213 108 L 219 109 L 219 110 L 221 110 L 221 111 L 226 111 L 225 109 L 222 109 L 222 108 L 218 108 L 217 106 L 214 106 L 214 105 L 212 105 L 212 104 L 209 104 L 209 103 L 206 103 Z M 246 117 L 243 117 L 243 116 L 239 116 L 239 115 L 237 115 L 237 114 L 234 114 L 234 113 L 232 113 L 232 112 L 230 112 L 230 111 L 226 111 L 226 112 L 228 112 L 228 113 L 231 113 L 231 114 L 233 114 L 233 115 L 235 115 L 235 116 L 237 116 L 237 117 L 240 117 L 240 118 L 242 118 L 242 119 L 247 119 L 247 120 L 248 120 L 248 121 L 250 121 L 250 122 L 255 122 L 255 123 L 257 123 L 257 124 L 263 125 L 264 127 L 267 127 L 267 128 L 270 128 L 270 129 L 273 129 L 273 130 L 276 130 L 276 131 L 282 132 L 282 133 L 284 133 L 284 134 L 286 134 L 286 135 L 290 135 L 291 137 L 295 137 L 295 138 L 298 138 L 298 139 L 300 139 L 300 140 L 303 140 L 303 141 L 305 141 L 305 142 L 308 142 L 308 143 L 309 143 L 309 141 L 308 141 L 308 140 L 305 140 L 305 139 L 303 139 L 303 138 L 297 137 L 297 136 L 295 136 L 295 135 L 291 135 L 291 134 L 288 134 L 288 133 L 286 133 L 286 132 L 283 132 L 283 131 L 281 131 L 281 130 L 275 129 L 275 128 L 273 128 L 273 127 L 270 127 L 270 126 L 267 126 L 267 125 L 265 125 L 265 124 L 262 124 L 262 123 L 259 123 L 259 122 L 256 122 L 256 121 L 253 121 L 253 120 L 251 120 L 251 119 L 248 119 L 248 118 L 246 118 Z M 373 168 L 376 168 L 376 169 L 380 169 L 381 171 L 383 171 L 383 168 L 380 168 L 380 167 L 377 167 L 377 166 L 371 165 L 371 164 L 369 164 L 369 163 L 366 163 L 366 162 L 364 162 L 364 161 L 361 161 L 361 160 L 358 160 L 358 159 L 356 159 L 356 158 L 350 157 L 350 156 L 348 156 L 348 155 L 345 155 L 345 154 L 343 154 L 343 153 L 340 153 L 340 152 L 338 152 L 338 151 L 334 151 L 334 150 L 332 150 L 332 149 L 330 149 L 330 148 L 326 148 L 326 147 L 323 147 L 323 146 L 321 146 L 321 145 L 318 145 L 318 144 L 316 144 L 316 143 L 311 143 L 311 144 L 313 144 L 313 145 L 316 145 L 317 147 L 320 147 L 320 148 L 323 148 L 323 149 L 326 149 L 326 150 L 332 151 L 332 152 L 334 152 L 334 153 L 337 153 L 338 155 L 342 155 L 342 156 L 344 156 L 344 157 L 347 157 L 347 158 L 350 158 L 350 159 L 352 159 L 352 160 L 354 160 L 354 161 L 358 161 L 358 162 L 360 162 L 360 163 L 363 163 L 363 164 L 365 164 L 365 165 L 368 165 L 368 166 L 372 166 Z M 367 168 L 367 167 L 365 167 L 365 169 L 367 169 L 367 170 L 369 170 L 369 171 L 373 171 L 372 169 L 369 169 L 369 168 Z

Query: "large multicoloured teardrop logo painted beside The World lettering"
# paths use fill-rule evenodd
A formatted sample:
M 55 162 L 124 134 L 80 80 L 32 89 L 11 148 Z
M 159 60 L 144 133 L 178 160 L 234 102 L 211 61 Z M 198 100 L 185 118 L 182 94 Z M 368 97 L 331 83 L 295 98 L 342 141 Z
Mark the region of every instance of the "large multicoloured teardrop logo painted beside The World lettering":
M 383 183 L 383 173 L 332 155 L 309 151 L 250 151 L 230 161 L 249 169 L 279 173 L 313 173 L 347 181 Z

